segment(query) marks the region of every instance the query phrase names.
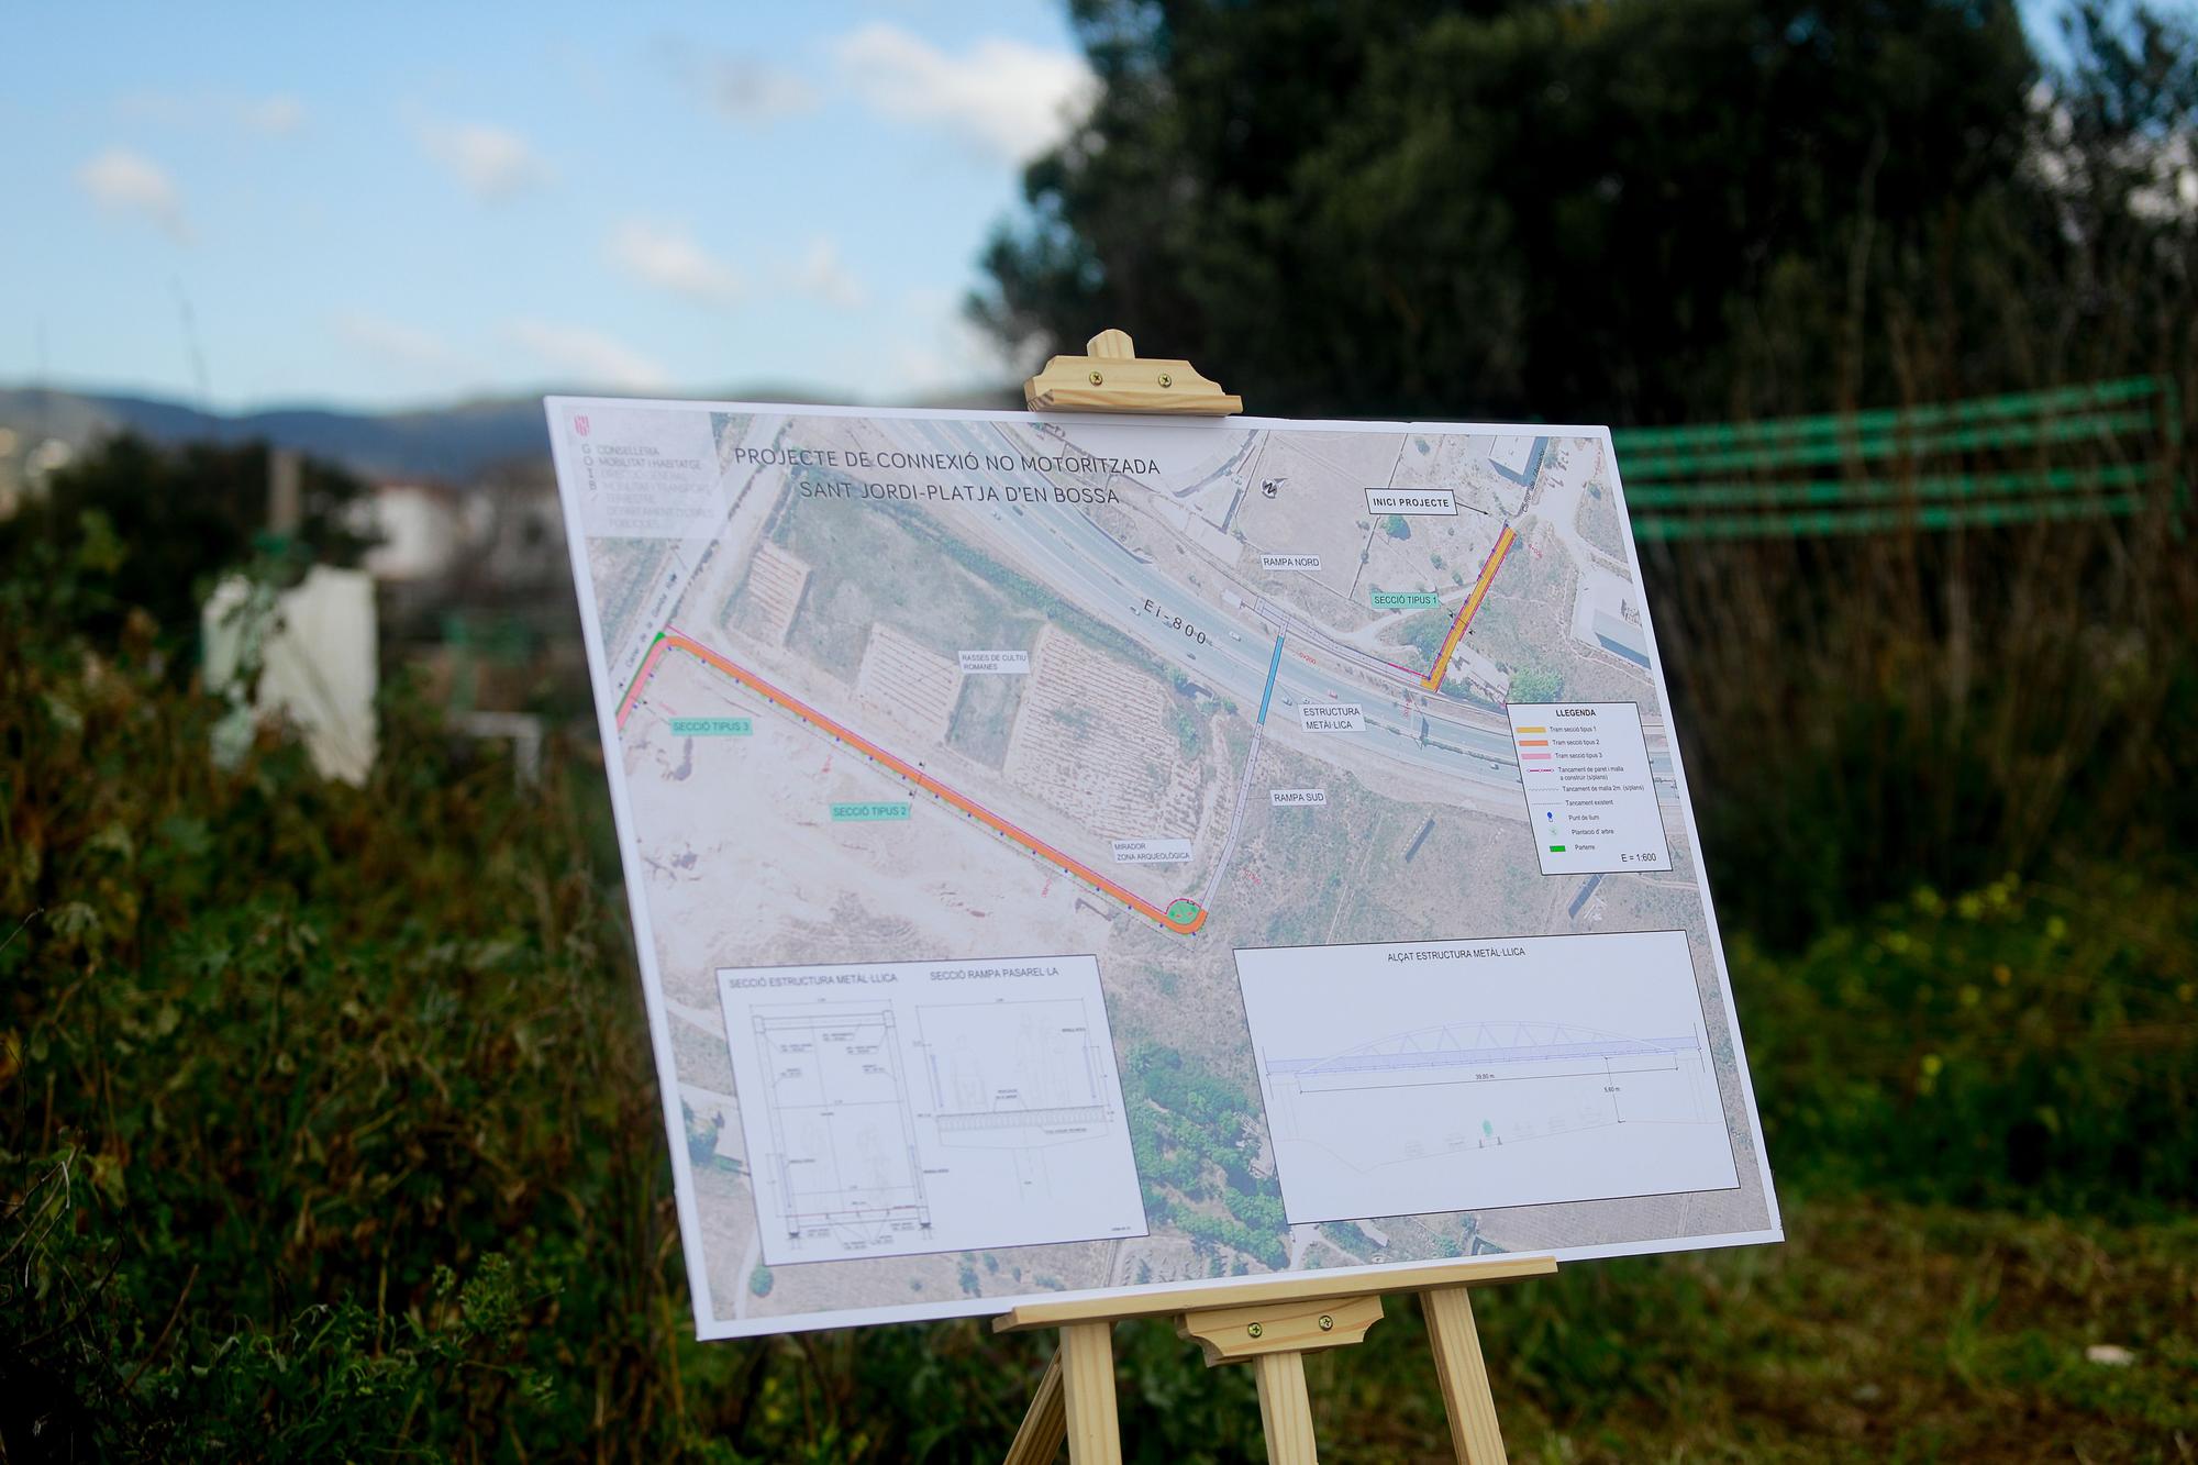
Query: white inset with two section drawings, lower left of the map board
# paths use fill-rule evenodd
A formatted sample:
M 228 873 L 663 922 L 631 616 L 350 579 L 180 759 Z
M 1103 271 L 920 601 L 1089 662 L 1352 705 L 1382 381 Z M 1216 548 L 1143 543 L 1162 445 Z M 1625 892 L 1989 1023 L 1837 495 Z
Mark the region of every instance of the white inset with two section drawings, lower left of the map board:
M 765 1263 L 1145 1234 L 1092 957 L 717 977 Z

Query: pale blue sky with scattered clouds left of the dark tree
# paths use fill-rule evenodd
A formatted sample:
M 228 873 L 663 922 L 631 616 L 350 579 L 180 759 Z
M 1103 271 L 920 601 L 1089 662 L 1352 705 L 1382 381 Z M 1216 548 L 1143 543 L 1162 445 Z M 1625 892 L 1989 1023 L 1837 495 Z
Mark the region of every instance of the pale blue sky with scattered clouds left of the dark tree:
M 0 383 L 202 363 L 215 407 L 1000 381 L 958 304 L 1088 86 L 1046 0 L 73 0 L 7 42 Z

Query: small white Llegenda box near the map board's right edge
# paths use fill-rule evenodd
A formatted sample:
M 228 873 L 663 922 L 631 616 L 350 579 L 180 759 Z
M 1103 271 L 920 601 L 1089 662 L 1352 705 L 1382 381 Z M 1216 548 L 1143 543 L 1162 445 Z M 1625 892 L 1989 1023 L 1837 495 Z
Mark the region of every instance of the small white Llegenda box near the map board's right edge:
M 1635 704 L 1514 702 L 1503 711 L 1519 750 L 1541 873 L 1670 869 Z

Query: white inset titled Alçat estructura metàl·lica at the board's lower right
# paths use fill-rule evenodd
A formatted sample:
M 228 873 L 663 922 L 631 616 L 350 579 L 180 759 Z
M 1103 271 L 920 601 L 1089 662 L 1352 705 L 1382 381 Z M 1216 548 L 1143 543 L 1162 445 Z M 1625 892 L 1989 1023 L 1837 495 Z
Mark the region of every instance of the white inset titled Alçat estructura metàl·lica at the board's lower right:
M 1736 1183 L 1684 933 L 1240 950 L 1237 972 L 1292 1223 Z

